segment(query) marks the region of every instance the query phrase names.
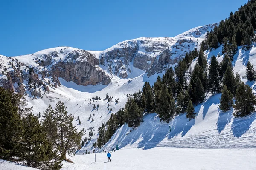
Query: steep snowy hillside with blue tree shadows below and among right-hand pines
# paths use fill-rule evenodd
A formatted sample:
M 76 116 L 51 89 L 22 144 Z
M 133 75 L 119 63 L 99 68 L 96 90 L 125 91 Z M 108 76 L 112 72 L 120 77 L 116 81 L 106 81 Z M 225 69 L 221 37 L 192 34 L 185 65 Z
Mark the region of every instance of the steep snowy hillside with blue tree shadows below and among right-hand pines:
M 221 47 L 215 51 L 206 52 L 208 62 L 212 55 L 220 57 Z M 256 44 L 249 51 L 239 48 L 234 56 L 234 72 L 245 75 L 245 65 L 250 61 L 256 67 Z M 196 62 L 196 60 L 194 61 Z M 191 66 L 195 65 L 192 63 Z M 256 82 L 242 79 L 253 88 L 256 94 Z M 256 114 L 243 118 L 234 118 L 233 109 L 222 113 L 218 105 L 221 94 L 207 95 L 205 102 L 195 106 L 196 119 L 189 121 L 185 114 L 176 116 L 167 124 L 159 121 L 157 114 L 144 116 L 143 123 L 132 130 L 123 125 L 115 133 L 105 147 L 110 149 L 118 141 L 119 148 L 153 147 L 190 147 L 190 148 L 253 148 L 256 147 Z M 169 131 L 171 127 L 171 132 Z M 130 132 L 130 130 L 132 130 Z

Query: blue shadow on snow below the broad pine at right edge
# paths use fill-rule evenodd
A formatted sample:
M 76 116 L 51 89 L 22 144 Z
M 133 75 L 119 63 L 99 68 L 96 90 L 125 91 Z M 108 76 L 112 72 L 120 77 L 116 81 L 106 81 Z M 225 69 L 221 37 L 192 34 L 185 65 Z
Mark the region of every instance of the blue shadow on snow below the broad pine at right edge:
M 242 117 L 242 118 L 234 118 L 231 130 L 234 137 L 241 137 L 247 130 L 250 129 L 251 124 L 256 119 L 256 113 L 251 114 L 250 116 Z

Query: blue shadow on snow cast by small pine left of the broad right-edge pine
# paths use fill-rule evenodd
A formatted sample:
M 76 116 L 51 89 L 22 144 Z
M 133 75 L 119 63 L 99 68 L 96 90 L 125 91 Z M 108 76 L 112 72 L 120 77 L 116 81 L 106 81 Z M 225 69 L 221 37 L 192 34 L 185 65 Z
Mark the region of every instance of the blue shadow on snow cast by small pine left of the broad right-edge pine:
M 220 109 L 218 109 L 218 121 L 216 123 L 217 125 L 217 131 L 220 134 L 222 130 L 231 122 L 232 119 L 232 113 L 233 113 L 233 108 L 230 111 L 227 111 L 223 113 Z

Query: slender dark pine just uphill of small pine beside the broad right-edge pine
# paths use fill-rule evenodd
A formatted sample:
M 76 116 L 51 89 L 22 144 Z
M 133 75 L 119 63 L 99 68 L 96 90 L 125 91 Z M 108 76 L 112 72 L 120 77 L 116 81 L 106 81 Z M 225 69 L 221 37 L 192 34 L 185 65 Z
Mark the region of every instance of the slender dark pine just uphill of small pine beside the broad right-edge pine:
M 227 86 L 227 89 L 232 93 L 236 93 L 236 80 L 232 68 L 228 67 L 223 79 L 223 85 Z

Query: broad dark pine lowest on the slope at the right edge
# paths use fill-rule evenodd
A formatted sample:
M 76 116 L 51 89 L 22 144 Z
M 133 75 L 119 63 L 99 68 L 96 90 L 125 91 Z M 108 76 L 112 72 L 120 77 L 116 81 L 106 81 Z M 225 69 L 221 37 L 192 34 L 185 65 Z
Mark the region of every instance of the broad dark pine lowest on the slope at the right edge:
M 249 85 L 240 83 L 236 90 L 236 100 L 233 108 L 235 108 L 235 117 L 243 117 L 255 111 L 256 97 Z

